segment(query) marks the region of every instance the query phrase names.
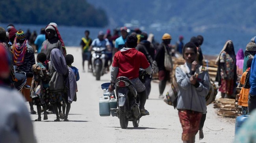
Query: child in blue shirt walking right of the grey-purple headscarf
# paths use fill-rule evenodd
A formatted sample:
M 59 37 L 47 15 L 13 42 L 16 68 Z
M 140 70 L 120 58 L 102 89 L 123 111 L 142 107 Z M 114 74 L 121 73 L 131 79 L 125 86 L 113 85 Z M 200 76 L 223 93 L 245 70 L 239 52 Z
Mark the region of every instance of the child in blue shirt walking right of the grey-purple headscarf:
M 69 91 L 64 93 L 64 100 L 66 105 L 64 105 L 62 107 L 62 111 L 63 114 L 65 114 L 65 118 L 64 121 L 69 121 L 68 115 L 69 115 L 69 111 L 70 111 L 70 106 L 72 101 L 76 101 L 76 92 L 77 92 L 77 85 L 76 85 L 76 81 L 78 81 L 80 79 L 79 77 L 79 72 L 78 69 L 74 66 L 72 66 L 72 63 L 74 62 L 74 57 L 72 54 L 67 54 L 67 56 L 65 56 L 65 60 L 67 63 L 67 66 L 69 67 L 69 78 L 66 80 L 66 86 L 69 86 L 68 89 Z M 67 84 L 68 82 L 68 84 Z M 66 113 L 65 113 L 66 110 Z

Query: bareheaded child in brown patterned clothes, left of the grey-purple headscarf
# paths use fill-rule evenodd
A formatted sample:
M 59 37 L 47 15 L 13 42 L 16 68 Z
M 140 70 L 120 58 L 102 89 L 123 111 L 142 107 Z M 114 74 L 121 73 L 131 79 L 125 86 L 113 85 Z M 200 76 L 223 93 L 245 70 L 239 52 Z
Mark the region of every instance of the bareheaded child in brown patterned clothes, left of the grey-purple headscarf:
M 33 105 L 37 106 L 38 118 L 35 121 L 41 121 L 41 106 L 44 109 L 44 120 L 48 119 L 46 105 L 49 103 L 50 73 L 46 69 L 45 61 L 46 54 L 41 52 L 37 55 L 37 64 L 32 66 L 33 78 L 30 96 L 32 97 Z

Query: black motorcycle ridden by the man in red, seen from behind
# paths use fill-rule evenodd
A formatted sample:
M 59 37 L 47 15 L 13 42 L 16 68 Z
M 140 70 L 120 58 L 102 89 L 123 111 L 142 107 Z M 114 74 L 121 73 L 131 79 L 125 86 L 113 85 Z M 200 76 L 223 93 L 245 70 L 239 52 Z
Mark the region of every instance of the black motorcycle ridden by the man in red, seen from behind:
M 145 76 L 151 76 L 144 69 L 139 70 L 139 79 L 145 83 Z M 117 95 L 117 116 L 120 120 L 122 129 L 126 129 L 128 121 L 132 121 L 134 127 L 139 126 L 140 114 L 140 98 L 135 87 L 129 78 L 120 76 L 115 82 L 115 90 Z M 112 111 L 111 111 L 112 112 Z

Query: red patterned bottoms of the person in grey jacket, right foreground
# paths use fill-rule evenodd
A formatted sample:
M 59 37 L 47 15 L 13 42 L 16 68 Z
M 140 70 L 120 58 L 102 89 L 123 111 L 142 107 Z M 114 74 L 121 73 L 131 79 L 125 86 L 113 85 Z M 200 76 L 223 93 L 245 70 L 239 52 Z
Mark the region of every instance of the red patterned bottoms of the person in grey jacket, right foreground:
M 182 141 L 188 141 L 199 130 L 202 113 L 192 110 L 179 110 L 180 123 L 182 126 Z

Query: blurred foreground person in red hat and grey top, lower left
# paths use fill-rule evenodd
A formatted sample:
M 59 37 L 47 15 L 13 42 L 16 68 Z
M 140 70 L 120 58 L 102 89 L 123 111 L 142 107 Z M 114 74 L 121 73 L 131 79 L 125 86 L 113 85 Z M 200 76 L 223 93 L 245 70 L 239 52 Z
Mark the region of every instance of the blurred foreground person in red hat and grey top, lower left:
M 11 56 L 0 44 L 0 139 L 1 143 L 36 143 L 28 109 L 17 90 L 8 87 Z

